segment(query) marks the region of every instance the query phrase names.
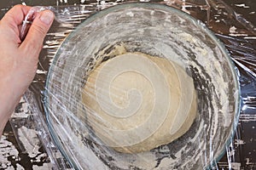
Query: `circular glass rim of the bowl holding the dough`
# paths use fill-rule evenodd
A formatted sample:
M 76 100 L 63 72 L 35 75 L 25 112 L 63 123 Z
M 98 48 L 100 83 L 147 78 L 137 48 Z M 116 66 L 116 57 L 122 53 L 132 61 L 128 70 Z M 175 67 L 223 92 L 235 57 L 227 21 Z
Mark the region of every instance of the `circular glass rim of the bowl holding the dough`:
M 52 72 L 54 70 L 55 64 L 57 62 L 57 60 L 60 58 L 60 54 L 61 54 L 61 47 L 65 46 L 67 44 L 67 42 L 69 41 L 69 39 L 71 39 L 73 36 L 75 36 L 75 33 L 83 26 L 86 26 L 87 24 L 89 24 L 90 22 L 101 18 L 102 16 L 112 13 L 112 12 L 116 12 L 119 11 L 120 9 L 123 8 L 152 8 L 152 9 L 161 9 L 167 12 L 172 12 L 173 14 L 177 14 L 178 16 L 181 16 L 183 18 L 186 18 L 187 20 L 189 20 L 191 23 L 193 23 L 195 26 L 197 26 L 198 28 L 200 28 L 202 31 L 205 31 L 205 33 L 215 42 L 215 44 L 218 46 L 219 49 L 221 49 L 221 51 L 224 54 L 224 58 L 227 60 L 231 73 L 232 73 L 232 77 L 234 80 L 234 88 L 236 88 L 237 91 L 237 96 L 236 96 L 236 108 L 235 108 L 235 114 L 234 114 L 234 119 L 232 120 L 232 130 L 230 131 L 229 137 L 226 139 L 226 142 L 223 146 L 223 148 L 221 149 L 222 151 L 220 152 L 220 154 L 218 156 L 213 156 L 212 161 L 210 161 L 209 165 L 205 165 L 206 169 L 212 169 L 212 167 L 216 167 L 217 166 L 217 162 L 224 156 L 224 153 L 226 151 L 226 148 L 229 147 L 229 145 L 231 144 L 234 135 L 236 133 L 236 127 L 238 125 L 238 121 L 239 121 L 239 116 L 240 116 L 240 112 L 241 112 L 241 88 L 240 88 L 240 83 L 239 83 L 239 79 L 238 79 L 238 70 L 236 68 L 236 65 L 234 64 L 234 62 L 232 61 L 232 59 L 230 58 L 230 54 L 228 52 L 228 50 L 224 47 L 224 43 L 221 42 L 218 37 L 215 36 L 215 34 L 209 30 L 209 28 L 207 28 L 207 26 L 201 22 L 201 20 L 196 20 L 193 16 L 183 12 L 180 9 L 177 9 L 175 7 L 172 6 L 168 6 L 166 4 L 163 3 L 139 3 L 139 2 L 131 2 L 131 3 L 119 3 L 116 5 L 113 5 L 111 7 L 108 8 L 104 8 L 101 11 L 96 12 L 95 14 L 90 14 L 90 16 L 88 18 L 86 18 L 83 22 L 81 22 L 79 24 L 79 26 L 77 26 L 61 43 L 60 47 L 56 50 L 56 54 L 55 57 L 52 61 L 52 64 L 49 66 L 49 71 L 46 77 L 46 81 L 45 81 L 45 91 L 44 91 L 44 112 L 46 115 L 46 122 L 47 125 L 49 127 L 49 133 L 53 139 L 53 141 L 55 142 L 57 148 L 61 151 L 61 155 L 64 156 L 66 158 L 66 160 L 69 162 L 70 166 L 75 168 L 75 169 L 81 169 L 82 167 L 79 167 L 76 162 L 73 160 L 73 158 L 71 158 L 70 156 L 68 156 L 67 154 L 67 150 L 64 149 L 63 145 L 61 144 L 60 139 L 57 137 L 57 134 L 54 131 L 54 127 L 50 121 L 49 118 L 49 108 L 48 108 L 48 104 L 49 104 L 49 98 L 48 98 L 48 90 L 49 89 L 49 80 L 51 78 Z

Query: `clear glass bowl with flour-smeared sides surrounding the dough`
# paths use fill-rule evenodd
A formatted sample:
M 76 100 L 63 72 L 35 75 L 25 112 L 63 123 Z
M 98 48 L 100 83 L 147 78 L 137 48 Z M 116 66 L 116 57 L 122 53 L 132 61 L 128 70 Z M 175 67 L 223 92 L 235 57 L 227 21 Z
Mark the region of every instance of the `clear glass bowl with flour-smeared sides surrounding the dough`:
M 88 123 L 82 90 L 116 44 L 169 59 L 193 78 L 197 115 L 187 133 L 152 150 L 121 153 Z M 155 3 L 126 3 L 91 15 L 61 44 L 45 85 L 44 109 L 55 144 L 76 169 L 206 169 L 236 130 L 240 88 L 229 54 L 199 20 Z

